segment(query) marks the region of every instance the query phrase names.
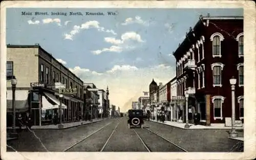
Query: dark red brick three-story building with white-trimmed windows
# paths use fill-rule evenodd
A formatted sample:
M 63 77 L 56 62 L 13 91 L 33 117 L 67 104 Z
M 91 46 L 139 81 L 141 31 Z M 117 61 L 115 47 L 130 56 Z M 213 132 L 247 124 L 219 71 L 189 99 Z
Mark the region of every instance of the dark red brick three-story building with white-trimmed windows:
M 189 94 L 189 119 L 198 112 L 205 125 L 231 117 L 231 85 L 235 77 L 236 120 L 243 121 L 243 17 L 200 16 L 174 52 L 177 95 Z M 191 116 L 192 115 L 192 116 Z

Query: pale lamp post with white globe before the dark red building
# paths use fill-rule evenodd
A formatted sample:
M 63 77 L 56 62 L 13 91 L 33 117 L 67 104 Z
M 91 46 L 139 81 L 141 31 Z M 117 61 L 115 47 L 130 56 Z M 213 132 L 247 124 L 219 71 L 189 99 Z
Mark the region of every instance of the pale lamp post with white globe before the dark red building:
M 232 96 L 232 117 L 231 117 L 231 125 L 232 125 L 232 129 L 231 132 L 229 133 L 229 136 L 231 138 L 237 138 L 238 137 L 238 133 L 236 132 L 236 128 L 234 128 L 234 122 L 236 120 L 236 115 L 235 115 L 235 104 L 234 104 L 234 89 L 235 89 L 235 84 L 237 83 L 237 79 L 232 77 L 229 80 L 230 84 L 231 84 L 231 96 Z

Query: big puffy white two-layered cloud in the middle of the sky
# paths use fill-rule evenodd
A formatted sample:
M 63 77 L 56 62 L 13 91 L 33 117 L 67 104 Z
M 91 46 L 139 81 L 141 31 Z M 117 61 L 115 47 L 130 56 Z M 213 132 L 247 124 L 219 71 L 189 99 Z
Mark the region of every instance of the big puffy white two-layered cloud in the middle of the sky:
M 141 36 L 135 32 L 126 32 L 121 35 L 121 39 L 116 39 L 114 37 L 105 37 L 105 42 L 114 44 L 110 48 L 104 48 L 102 50 L 96 50 L 92 51 L 93 54 L 99 55 L 102 52 L 122 52 L 123 50 L 129 50 L 136 48 L 135 45 L 129 45 L 126 44 L 129 41 L 137 41 L 137 42 L 144 42 L 144 40 L 141 39 Z

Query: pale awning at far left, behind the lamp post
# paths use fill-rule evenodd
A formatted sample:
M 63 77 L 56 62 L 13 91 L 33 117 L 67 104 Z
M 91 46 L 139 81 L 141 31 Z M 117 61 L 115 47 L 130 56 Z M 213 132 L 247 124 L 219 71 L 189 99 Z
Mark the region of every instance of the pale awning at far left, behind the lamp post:
M 25 112 L 29 108 L 28 90 L 15 90 L 15 111 Z M 6 112 L 12 112 L 12 90 L 7 90 Z

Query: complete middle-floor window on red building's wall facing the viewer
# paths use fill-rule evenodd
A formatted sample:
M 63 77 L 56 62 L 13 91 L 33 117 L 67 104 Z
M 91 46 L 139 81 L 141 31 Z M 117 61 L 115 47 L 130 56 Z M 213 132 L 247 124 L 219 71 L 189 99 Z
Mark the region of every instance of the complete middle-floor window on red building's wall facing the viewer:
M 223 70 L 224 64 L 222 63 L 213 63 L 211 64 L 212 70 L 212 78 L 213 78 L 213 86 L 222 86 L 221 84 L 221 75 Z

